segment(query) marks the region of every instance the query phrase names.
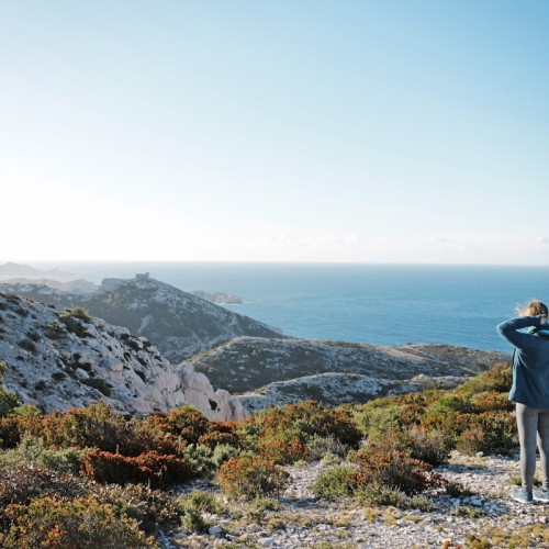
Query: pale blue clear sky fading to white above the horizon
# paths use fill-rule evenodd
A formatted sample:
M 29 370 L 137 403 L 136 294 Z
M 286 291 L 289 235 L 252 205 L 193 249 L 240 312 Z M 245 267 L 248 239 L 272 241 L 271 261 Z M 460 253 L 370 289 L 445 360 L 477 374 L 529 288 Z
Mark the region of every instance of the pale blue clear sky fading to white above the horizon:
M 549 265 L 546 0 L 0 0 L 0 260 Z

